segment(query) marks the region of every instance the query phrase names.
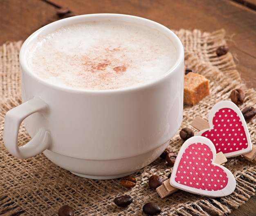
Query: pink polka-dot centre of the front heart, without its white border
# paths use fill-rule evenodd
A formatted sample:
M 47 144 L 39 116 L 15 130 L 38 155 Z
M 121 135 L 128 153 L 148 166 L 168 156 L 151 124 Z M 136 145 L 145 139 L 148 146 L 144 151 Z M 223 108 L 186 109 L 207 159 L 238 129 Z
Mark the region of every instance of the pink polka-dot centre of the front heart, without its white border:
M 193 143 L 184 151 L 175 181 L 202 190 L 217 191 L 227 186 L 223 169 L 212 165 L 213 154 L 204 143 Z

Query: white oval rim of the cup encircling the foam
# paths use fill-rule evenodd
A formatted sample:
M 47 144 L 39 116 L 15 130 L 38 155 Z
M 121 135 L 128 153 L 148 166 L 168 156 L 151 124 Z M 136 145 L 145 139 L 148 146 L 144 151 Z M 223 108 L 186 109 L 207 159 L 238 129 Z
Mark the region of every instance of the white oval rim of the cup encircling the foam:
M 63 87 L 63 86 L 58 86 L 54 85 L 50 82 L 45 81 L 44 79 L 40 78 L 39 76 L 36 76 L 31 69 L 29 69 L 26 61 L 26 51 L 31 44 L 34 43 L 34 41 L 39 40 L 41 36 L 44 36 L 58 28 L 70 25 L 70 24 L 76 24 L 76 23 L 82 23 L 82 22 L 90 22 L 90 21 L 96 21 L 95 18 L 99 20 L 117 20 L 117 21 L 126 21 L 126 22 L 138 22 L 141 24 L 142 22 L 146 23 L 148 27 L 151 27 L 152 29 L 156 28 L 161 28 L 162 33 L 165 33 L 168 37 L 171 37 L 171 40 L 173 42 L 173 45 L 175 46 L 175 49 L 177 51 L 177 60 L 175 64 L 166 71 L 163 75 L 159 76 L 158 78 L 151 80 L 149 82 L 142 83 L 140 85 L 135 85 L 131 87 L 124 87 L 124 88 L 118 88 L 118 89 L 103 89 L 103 90 L 98 90 L 98 89 L 76 89 L 76 88 L 70 88 L 70 87 Z M 86 20 L 84 20 L 86 19 Z M 91 19 L 91 20 L 90 20 Z M 128 20 L 127 20 L 128 19 Z M 97 20 L 97 21 L 99 21 Z M 51 31 L 49 31 L 52 29 Z M 19 61 L 20 61 L 20 66 L 24 68 L 23 72 L 29 74 L 32 78 L 35 80 L 38 80 L 38 82 L 43 83 L 43 85 L 46 85 L 48 87 L 54 88 L 54 89 L 59 89 L 63 91 L 69 91 L 69 92 L 74 92 L 74 93 L 114 93 L 114 92 L 123 92 L 123 91 L 132 91 L 132 90 L 137 90 L 137 89 L 142 89 L 142 88 L 147 88 L 151 87 L 153 85 L 156 85 L 158 82 L 162 82 L 166 76 L 171 76 L 172 71 L 175 71 L 175 69 L 180 65 L 180 62 L 184 61 L 184 48 L 182 45 L 182 42 L 178 38 L 178 36 L 171 31 L 171 29 L 168 29 L 164 25 L 155 22 L 153 20 L 149 20 L 147 18 L 142 18 L 139 16 L 133 16 L 133 15 L 128 15 L 128 14 L 121 14 L 121 13 L 92 13 L 92 14 L 83 14 L 83 15 L 78 15 L 78 16 L 73 16 L 69 18 L 64 18 L 61 20 L 54 21 L 52 23 L 49 23 L 40 29 L 36 30 L 34 33 L 32 33 L 22 44 L 20 48 L 20 55 L 19 55 Z

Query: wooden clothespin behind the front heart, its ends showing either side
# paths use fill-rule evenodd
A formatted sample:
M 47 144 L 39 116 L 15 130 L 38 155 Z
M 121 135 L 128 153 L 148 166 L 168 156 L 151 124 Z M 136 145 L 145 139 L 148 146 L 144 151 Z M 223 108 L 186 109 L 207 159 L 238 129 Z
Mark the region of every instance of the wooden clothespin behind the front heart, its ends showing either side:
M 218 154 L 216 154 L 216 159 L 215 159 L 214 163 L 219 164 L 219 165 L 224 165 L 226 162 L 227 162 L 227 158 L 224 156 L 224 154 L 222 154 L 222 152 L 219 152 Z M 170 185 L 169 178 L 167 180 L 165 180 L 162 183 L 162 185 L 160 185 L 156 189 L 157 193 L 159 194 L 159 196 L 161 198 L 165 198 L 166 196 L 169 196 L 178 190 L 179 190 L 178 188 Z

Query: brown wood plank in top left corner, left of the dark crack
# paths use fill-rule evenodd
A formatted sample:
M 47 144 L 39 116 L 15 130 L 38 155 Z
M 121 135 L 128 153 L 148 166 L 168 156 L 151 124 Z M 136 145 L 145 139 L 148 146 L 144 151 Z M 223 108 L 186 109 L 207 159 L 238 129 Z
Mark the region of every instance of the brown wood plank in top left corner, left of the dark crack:
M 1 0 L 0 5 L 0 45 L 25 40 L 55 13 L 52 5 L 38 0 Z

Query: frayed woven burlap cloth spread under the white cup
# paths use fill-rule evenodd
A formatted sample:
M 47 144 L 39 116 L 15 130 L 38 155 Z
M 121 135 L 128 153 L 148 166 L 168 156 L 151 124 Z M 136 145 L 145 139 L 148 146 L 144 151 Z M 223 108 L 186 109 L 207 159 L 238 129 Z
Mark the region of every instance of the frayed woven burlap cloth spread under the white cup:
M 247 89 L 236 70 L 231 53 L 217 57 L 216 49 L 226 44 L 225 31 L 212 33 L 199 30 L 175 31 L 185 49 L 185 65 L 210 80 L 211 94 L 197 105 L 184 107 L 181 127 L 190 125 L 195 116 L 208 120 L 210 109 L 216 102 L 230 100 L 230 91 L 241 88 L 246 92 L 246 100 L 240 109 L 256 104 L 256 93 Z M 225 166 L 236 177 L 236 190 L 222 198 L 208 198 L 178 191 L 161 199 L 148 186 L 148 178 L 157 174 L 164 180 L 172 167 L 158 158 L 144 169 L 133 174 L 137 185 L 128 189 L 119 179 L 91 180 L 71 174 L 57 167 L 43 154 L 22 160 L 11 156 L 4 147 L 2 131 L 6 111 L 21 103 L 20 71 L 18 54 L 22 42 L 9 42 L 0 47 L 0 214 L 17 215 L 57 215 L 62 205 L 70 205 L 75 215 L 145 215 L 142 207 L 147 202 L 155 202 L 162 208 L 161 215 L 225 215 L 243 205 L 256 190 L 256 164 L 241 156 L 229 158 Z M 247 121 L 252 143 L 256 141 L 256 118 Z M 19 142 L 29 141 L 24 126 L 20 128 Z M 171 139 L 170 147 L 178 151 L 182 140 L 178 133 Z M 126 208 L 117 207 L 113 200 L 117 196 L 129 194 L 132 204 Z

